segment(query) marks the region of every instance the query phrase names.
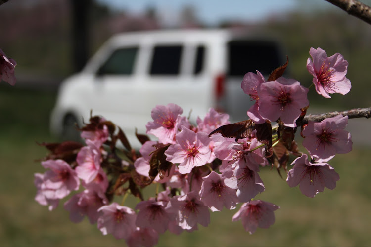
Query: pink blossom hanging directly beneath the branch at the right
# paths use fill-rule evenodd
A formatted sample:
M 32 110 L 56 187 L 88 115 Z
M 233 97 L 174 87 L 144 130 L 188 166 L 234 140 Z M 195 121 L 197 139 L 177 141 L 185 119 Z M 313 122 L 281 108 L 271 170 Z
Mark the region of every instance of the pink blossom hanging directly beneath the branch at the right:
M 352 137 L 344 128 L 348 116 L 337 115 L 318 122 L 310 121 L 302 131 L 305 136 L 303 146 L 318 162 L 327 162 L 335 154 L 352 151 Z

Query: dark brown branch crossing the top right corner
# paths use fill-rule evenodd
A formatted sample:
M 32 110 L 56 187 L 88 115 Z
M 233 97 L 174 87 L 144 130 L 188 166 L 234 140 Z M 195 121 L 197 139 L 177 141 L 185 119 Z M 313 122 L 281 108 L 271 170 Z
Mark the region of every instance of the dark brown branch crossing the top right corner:
M 338 6 L 350 15 L 371 24 L 371 7 L 357 0 L 325 0 Z

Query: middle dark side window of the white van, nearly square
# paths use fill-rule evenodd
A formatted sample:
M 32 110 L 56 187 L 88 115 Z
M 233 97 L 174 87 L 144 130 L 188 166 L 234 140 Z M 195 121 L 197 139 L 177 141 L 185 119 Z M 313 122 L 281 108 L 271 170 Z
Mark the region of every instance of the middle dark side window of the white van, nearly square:
M 158 45 L 154 47 L 150 75 L 178 75 L 180 71 L 181 45 Z

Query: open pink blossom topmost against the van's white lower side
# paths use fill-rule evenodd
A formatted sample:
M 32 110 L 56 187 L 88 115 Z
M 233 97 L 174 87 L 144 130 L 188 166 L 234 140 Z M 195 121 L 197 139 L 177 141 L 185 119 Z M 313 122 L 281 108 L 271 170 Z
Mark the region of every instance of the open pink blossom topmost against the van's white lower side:
M 152 122 L 146 124 L 147 134 L 153 134 L 161 143 L 175 143 L 175 135 L 181 125 L 189 127 L 185 117 L 180 116 L 183 109 L 176 104 L 158 105 L 152 109 Z

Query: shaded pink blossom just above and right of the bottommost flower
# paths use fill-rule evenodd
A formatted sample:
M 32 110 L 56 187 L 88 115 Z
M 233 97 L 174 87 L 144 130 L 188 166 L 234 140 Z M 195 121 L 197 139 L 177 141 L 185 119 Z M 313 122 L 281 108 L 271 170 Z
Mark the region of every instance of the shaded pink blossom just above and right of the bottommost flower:
M 167 202 L 156 202 L 154 199 L 141 201 L 135 207 L 139 210 L 136 225 L 141 228 L 152 228 L 159 234 L 164 233 L 169 225 L 170 217 L 165 211 Z

